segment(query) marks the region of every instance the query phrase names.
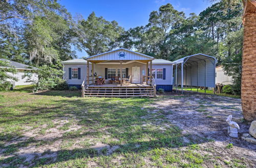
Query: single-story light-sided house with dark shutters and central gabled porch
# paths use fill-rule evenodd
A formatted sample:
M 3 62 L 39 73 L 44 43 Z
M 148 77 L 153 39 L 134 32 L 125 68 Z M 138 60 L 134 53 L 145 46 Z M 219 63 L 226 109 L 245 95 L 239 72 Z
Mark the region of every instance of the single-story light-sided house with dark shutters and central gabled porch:
M 160 88 L 173 90 L 173 66 L 179 63 L 119 48 L 63 61 L 63 79 L 81 88 L 82 96 L 155 96 Z

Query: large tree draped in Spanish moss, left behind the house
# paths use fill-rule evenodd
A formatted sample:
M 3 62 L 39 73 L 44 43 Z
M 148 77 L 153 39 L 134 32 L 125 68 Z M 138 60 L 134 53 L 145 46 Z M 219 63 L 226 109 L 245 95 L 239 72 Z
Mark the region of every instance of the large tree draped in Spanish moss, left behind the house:
M 53 64 L 75 57 L 71 49 L 74 33 L 71 23 L 54 12 L 36 16 L 26 27 L 30 60 L 36 65 Z

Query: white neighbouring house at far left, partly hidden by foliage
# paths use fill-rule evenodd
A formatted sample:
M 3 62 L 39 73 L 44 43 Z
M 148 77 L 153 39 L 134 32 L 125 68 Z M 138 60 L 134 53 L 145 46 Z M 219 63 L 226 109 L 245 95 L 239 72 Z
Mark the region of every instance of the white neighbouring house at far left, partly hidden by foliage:
M 0 59 L 1 61 L 7 61 L 10 66 L 15 68 L 17 70 L 16 74 L 12 74 L 14 77 L 16 77 L 17 81 L 12 81 L 14 86 L 20 86 L 20 85 L 31 85 L 32 81 L 37 81 L 38 76 L 37 74 L 33 73 L 33 70 L 36 70 L 36 67 L 32 67 L 26 64 L 17 63 L 15 61 L 10 61 L 6 59 Z M 9 73 L 9 72 L 8 72 Z M 31 73 L 31 78 L 29 79 L 27 76 L 25 77 L 26 73 Z M 9 73 L 11 74 L 11 73 Z M 29 79 L 29 81 L 28 81 Z

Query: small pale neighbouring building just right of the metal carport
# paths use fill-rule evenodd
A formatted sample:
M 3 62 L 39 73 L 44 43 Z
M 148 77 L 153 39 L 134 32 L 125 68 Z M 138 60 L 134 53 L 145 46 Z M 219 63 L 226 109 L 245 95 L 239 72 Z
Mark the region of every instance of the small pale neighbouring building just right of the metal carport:
M 232 84 L 232 77 L 225 75 L 222 65 L 216 67 L 216 83 L 222 83 L 223 85 Z

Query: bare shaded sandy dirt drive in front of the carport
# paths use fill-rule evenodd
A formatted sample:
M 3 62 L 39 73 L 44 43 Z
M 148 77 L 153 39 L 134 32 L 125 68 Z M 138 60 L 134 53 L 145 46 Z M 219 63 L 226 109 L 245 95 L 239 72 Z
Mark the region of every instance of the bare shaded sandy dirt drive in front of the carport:
M 250 164 L 256 163 L 256 146 L 241 139 L 242 134 L 248 132 L 249 125 L 243 122 L 240 99 L 172 94 L 171 97 L 155 102 L 151 107 L 166 112 L 161 115 L 165 115 L 170 123 L 183 130 L 184 143 L 198 143 L 201 148 L 211 147 L 217 151 L 215 155 L 226 160 L 229 160 L 229 156 L 237 156 L 246 158 Z M 171 114 L 167 111 L 171 111 Z M 149 113 L 157 114 L 156 110 Z M 232 138 L 227 134 L 226 119 L 229 115 L 232 115 L 233 120 L 240 126 L 239 138 Z M 226 149 L 229 143 L 234 146 L 232 150 Z

